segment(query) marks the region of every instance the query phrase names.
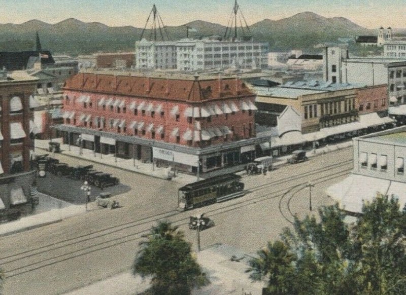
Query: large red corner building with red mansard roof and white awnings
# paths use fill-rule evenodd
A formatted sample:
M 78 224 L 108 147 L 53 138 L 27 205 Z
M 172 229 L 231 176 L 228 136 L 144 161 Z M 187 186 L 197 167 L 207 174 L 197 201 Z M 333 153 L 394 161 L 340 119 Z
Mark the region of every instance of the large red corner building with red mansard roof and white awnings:
M 250 161 L 269 141 L 255 137 L 255 94 L 240 79 L 121 75 L 66 81 L 65 143 L 207 172 Z

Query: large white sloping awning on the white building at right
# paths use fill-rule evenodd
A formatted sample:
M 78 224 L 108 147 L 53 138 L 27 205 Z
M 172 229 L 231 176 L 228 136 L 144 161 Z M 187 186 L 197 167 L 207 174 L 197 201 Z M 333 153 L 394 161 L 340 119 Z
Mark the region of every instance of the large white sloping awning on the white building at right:
M 362 201 L 372 201 L 377 193 L 387 194 L 390 184 L 390 180 L 351 174 L 343 181 L 329 187 L 326 194 L 338 201 L 344 210 L 362 212 Z M 405 186 L 404 183 L 403 186 Z

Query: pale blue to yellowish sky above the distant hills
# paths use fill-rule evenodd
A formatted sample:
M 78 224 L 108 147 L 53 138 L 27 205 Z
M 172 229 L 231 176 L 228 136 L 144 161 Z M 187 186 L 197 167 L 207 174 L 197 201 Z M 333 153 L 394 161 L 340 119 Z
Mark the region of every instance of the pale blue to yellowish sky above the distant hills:
M 38 19 L 57 23 L 66 18 L 109 26 L 144 27 L 155 3 L 163 23 L 181 25 L 205 20 L 226 25 L 234 0 L 0 0 L 0 23 Z M 406 0 L 238 0 L 249 25 L 311 11 L 342 16 L 366 28 L 406 28 Z

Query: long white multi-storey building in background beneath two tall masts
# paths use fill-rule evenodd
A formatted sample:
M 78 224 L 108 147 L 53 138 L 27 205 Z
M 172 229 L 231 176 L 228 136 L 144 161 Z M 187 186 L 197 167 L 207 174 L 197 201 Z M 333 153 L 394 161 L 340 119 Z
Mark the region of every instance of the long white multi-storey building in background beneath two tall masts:
M 136 42 L 136 68 L 196 71 L 222 68 L 264 69 L 268 43 L 183 39 Z

